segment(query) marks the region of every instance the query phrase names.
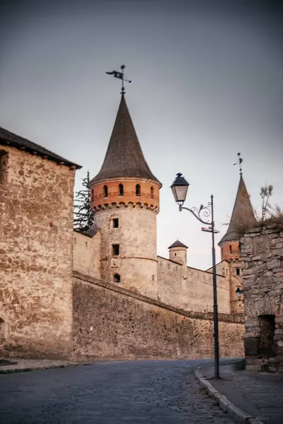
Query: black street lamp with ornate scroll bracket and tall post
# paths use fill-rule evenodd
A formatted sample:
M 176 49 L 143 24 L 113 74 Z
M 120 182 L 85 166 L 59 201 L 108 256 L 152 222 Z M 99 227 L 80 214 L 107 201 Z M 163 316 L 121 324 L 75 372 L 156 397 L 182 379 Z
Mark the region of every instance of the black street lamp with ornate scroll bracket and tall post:
M 213 278 L 213 321 L 214 321 L 214 378 L 219 379 L 219 330 L 218 330 L 218 307 L 217 307 L 217 286 L 216 286 L 216 263 L 215 263 L 215 245 L 214 245 L 214 234 L 215 223 L 214 223 L 214 210 L 213 210 L 213 195 L 210 197 L 211 201 L 207 204 L 207 206 L 200 205 L 200 208 L 197 209 L 195 206 L 193 208 L 185 208 L 183 204 L 185 203 L 185 199 L 187 196 L 187 189 L 189 187 L 189 183 L 185 180 L 183 175 L 179 172 L 173 184 L 171 184 L 171 189 L 173 192 L 173 196 L 175 201 L 179 205 L 179 211 L 186 209 L 190 211 L 192 215 L 195 216 L 201 223 L 205 225 L 209 225 L 208 228 L 202 228 L 202 231 L 208 231 L 212 233 L 212 278 Z M 212 220 L 205 220 L 205 218 L 209 217 L 211 214 Z M 202 217 L 204 219 L 202 219 Z

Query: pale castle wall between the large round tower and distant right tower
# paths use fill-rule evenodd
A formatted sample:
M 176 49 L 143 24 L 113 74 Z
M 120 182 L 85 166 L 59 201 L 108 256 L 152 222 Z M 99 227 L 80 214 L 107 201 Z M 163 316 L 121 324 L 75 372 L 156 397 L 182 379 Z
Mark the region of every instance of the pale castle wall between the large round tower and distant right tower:
M 212 273 L 158 257 L 158 300 L 186 311 L 212 312 Z M 229 280 L 217 275 L 219 312 L 230 313 Z

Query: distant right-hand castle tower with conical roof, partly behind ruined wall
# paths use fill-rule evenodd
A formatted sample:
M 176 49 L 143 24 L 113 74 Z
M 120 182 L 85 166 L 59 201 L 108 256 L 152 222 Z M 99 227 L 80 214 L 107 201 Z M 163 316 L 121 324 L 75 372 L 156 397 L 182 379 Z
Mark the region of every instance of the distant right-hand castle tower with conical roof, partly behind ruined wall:
M 230 305 L 232 314 L 243 313 L 243 295 L 240 300 L 236 295 L 236 289 L 243 288 L 242 265 L 239 250 L 241 227 L 253 223 L 255 223 L 253 207 L 250 204 L 250 196 L 248 195 L 243 176 L 240 173 L 240 182 L 238 184 L 238 191 L 229 227 L 218 244 L 219 247 L 221 247 L 221 261 L 226 260 L 229 262 L 229 275 L 227 278 L 229 278 L 230 284 Z

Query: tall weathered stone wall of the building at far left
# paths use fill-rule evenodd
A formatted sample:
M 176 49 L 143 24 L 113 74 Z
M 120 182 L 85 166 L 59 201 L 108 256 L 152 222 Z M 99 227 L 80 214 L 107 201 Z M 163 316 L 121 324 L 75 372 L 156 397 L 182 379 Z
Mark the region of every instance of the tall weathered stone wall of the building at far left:
M 16 148 L 0 182 L 0 351 L 71 350 L 74 170 Z M 4 324 L 3 324 L 4 322 Z

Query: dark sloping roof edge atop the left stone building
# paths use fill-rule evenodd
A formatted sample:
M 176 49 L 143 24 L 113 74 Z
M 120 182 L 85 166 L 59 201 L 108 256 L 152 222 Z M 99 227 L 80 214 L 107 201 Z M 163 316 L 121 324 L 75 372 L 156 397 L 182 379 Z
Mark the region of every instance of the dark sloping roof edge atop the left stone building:
M 62 158 L 62 156 L 56 155 L 47 148 L 40 146 L 39 144 L 33 143 L 27 139 L 23 139 L 21 136 L 11 133 L 10 131 L 1 128 L 0 126 L 0 144 L 13 146 L 21 150 L 28 151 L 29 153 L 37 153 L 38 155 L 47 156 L 48 159 L 54 160 L 57 163 L 63 163 L 63 165 L 74 166 L 77 170 L 81 168 L 81 165 L 77 165 L 74 162 L 70 162 L 67 159 Z

